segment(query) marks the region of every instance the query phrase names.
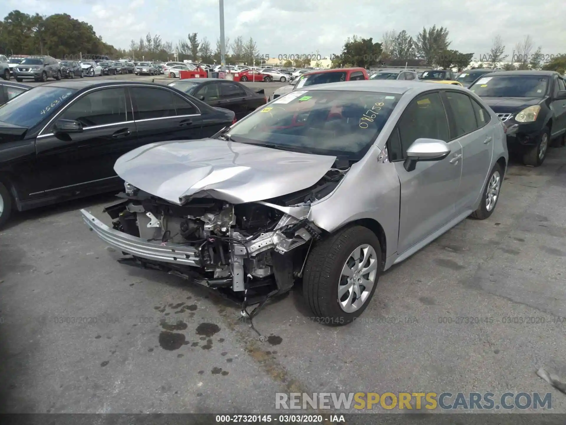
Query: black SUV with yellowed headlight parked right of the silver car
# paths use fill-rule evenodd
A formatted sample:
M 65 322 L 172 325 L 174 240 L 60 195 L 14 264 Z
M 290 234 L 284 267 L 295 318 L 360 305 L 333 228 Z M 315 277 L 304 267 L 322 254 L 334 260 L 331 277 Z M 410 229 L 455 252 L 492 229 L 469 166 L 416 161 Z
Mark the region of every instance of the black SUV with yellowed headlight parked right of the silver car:
M 509 152 L 538 167 L 551 141 L 566 142 L 566 81 L 554 71 L 496 71 L 469 87 L 505 125 Z

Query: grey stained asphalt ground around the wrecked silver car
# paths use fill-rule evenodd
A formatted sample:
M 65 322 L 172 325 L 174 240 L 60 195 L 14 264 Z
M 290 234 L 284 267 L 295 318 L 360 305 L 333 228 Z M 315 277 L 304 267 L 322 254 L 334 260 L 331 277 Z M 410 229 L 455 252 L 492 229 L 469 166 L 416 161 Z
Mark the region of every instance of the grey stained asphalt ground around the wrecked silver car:
M 551 392 L 565 413 L 535 375 L 566 376 L 565 164 L 566 148 L 512 164 L 491 218 L 385 272 L 351 325 L 311 320 L 295 287 L 254 319 L 264 342 L 238 305 L 115 261 L 78 211 L 108 222 L 112 195 L 19 214 L 0 231 L 0 411 L 268 413 L 278 391 L 509 391 Z

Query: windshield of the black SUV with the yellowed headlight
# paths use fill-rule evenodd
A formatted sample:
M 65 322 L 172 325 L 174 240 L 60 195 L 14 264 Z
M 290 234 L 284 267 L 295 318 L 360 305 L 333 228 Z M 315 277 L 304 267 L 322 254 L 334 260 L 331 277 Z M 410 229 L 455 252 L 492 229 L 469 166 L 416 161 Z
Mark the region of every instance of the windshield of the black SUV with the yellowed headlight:
M 543 97 L 548 87 L 544 75 L 484 76 L 470 86 L 481 97 Z

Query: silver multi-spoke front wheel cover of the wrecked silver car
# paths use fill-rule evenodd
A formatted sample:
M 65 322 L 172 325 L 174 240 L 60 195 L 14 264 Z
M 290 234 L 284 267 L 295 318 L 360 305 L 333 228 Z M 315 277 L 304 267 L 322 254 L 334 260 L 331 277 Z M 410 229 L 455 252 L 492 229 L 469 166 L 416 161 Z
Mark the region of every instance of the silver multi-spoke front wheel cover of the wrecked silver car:
M 338 278 L 338 305 L 346 313 L 358 311 L 370 297 L 378 273 L 378 257 L 368 244 L 354 249 Z

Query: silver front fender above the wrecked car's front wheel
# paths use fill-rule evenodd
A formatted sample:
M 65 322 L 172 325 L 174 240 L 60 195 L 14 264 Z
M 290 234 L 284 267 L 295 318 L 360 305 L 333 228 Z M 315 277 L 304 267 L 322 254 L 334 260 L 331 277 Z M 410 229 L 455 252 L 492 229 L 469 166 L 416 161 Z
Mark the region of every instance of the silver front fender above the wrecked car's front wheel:
M 331 194 L 312 204 L 308 219 L 331 233 L 357 220 L 373 220 L 383 228 L 389 257 L 397 250 L 401 186 L 395 165 L 378 163 L 379 152 L 372 146 Z

